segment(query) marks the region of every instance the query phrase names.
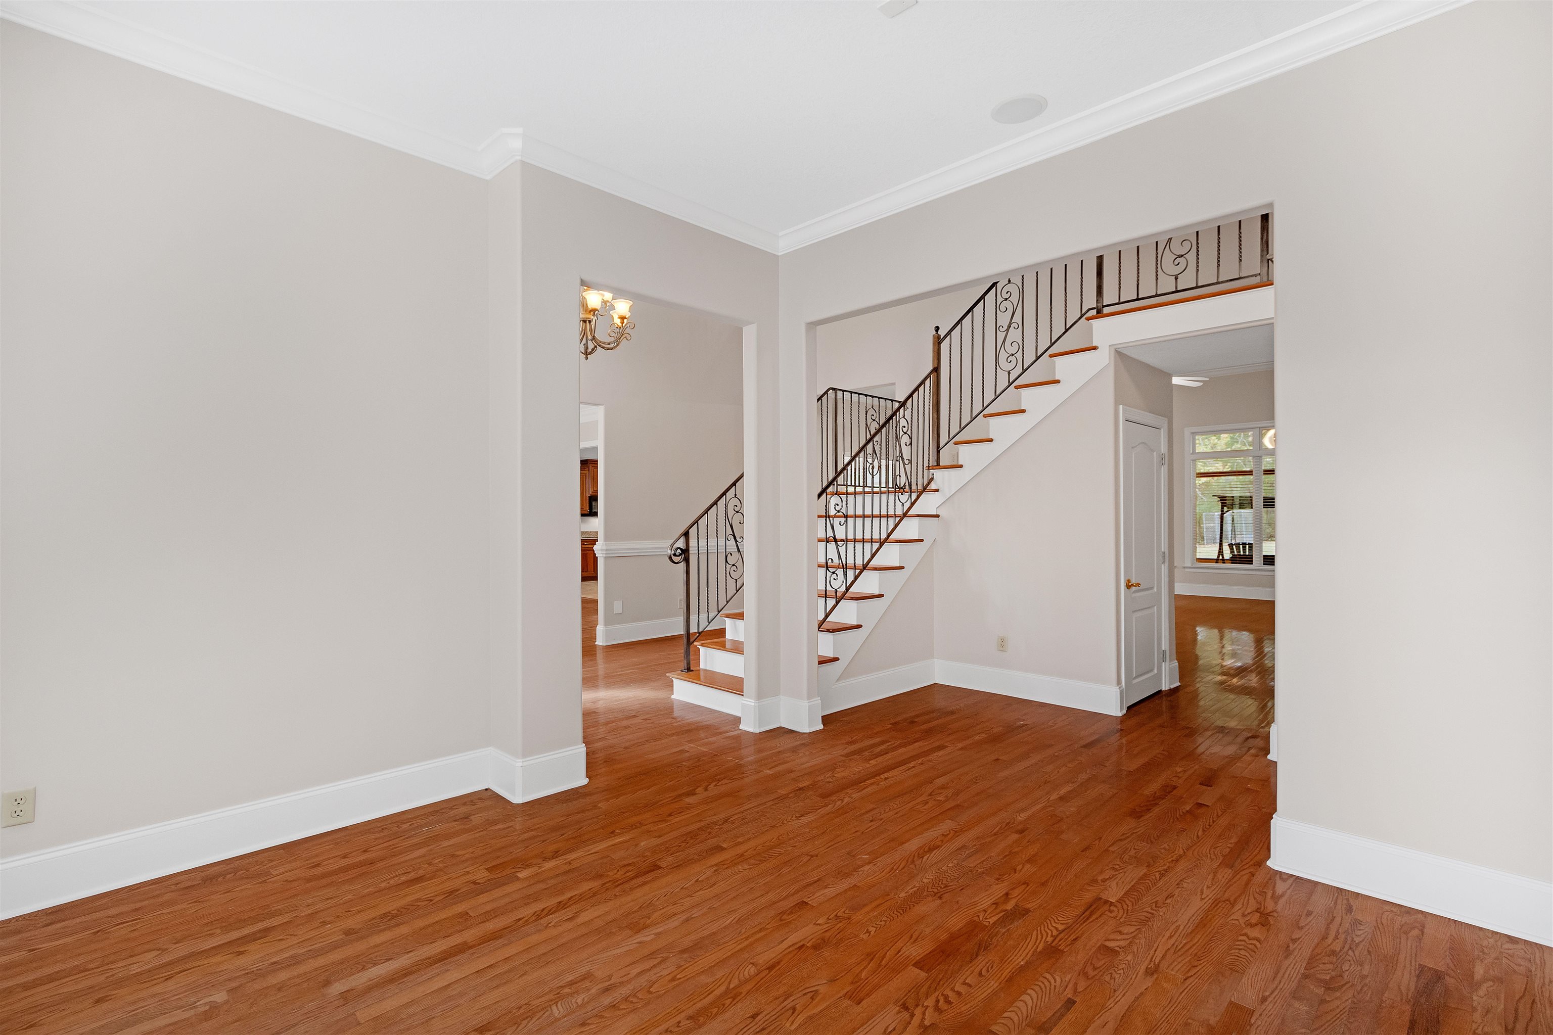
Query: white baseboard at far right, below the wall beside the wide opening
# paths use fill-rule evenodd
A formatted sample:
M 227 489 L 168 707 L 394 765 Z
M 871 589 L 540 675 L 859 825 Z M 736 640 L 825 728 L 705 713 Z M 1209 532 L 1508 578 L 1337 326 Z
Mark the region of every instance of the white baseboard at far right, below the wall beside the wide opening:
M 1272 818 L 1277 871 L 1553 945 L 1553 883 Z

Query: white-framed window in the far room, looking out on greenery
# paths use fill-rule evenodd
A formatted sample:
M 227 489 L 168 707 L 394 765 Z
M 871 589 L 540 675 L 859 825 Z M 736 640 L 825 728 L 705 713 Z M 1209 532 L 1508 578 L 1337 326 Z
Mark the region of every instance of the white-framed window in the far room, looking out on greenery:
M 1270 421 L 1186 430 L 1194 565 L 1277 563 L 1277 445 Z

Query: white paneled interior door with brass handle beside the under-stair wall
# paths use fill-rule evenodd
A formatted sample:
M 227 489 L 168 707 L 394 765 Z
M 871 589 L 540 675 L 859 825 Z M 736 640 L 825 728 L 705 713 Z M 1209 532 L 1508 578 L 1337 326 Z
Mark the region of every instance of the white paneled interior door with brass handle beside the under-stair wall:
M 1121 422 L 1121 704 L 1165 689 L 1165 428 Z

